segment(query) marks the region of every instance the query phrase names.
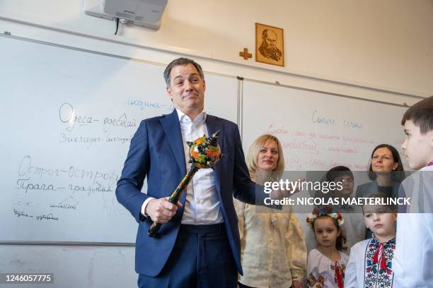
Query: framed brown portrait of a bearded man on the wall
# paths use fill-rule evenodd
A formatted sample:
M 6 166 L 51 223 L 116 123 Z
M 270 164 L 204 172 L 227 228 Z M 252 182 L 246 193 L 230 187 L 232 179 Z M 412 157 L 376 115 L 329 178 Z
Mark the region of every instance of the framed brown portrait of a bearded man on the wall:
M 284 66 L 282 28 L 255 23 L 255 61 Z

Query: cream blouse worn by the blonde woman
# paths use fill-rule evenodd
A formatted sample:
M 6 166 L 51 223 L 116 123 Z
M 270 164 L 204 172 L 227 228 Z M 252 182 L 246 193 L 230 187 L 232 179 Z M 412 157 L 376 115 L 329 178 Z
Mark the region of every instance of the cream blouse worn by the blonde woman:
M 290 287 L 304 282 L 305 236 L 298 218 L 287 206 L 273 210 L 234 199 L 241 236 L 243 276 L 250 287 Z M 259 212 L 260 211 L 260 212 Z

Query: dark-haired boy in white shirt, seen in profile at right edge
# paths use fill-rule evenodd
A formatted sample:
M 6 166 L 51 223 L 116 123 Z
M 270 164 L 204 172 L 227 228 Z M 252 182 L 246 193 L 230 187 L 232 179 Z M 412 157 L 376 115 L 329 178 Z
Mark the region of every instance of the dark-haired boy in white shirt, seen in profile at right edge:
M 401 124 L 401 146 L 411 169 L 402 183 L 410 205 L 398 215 L 392 270 L 398 287 L 433 287 L 433 96 L 414 104 Z

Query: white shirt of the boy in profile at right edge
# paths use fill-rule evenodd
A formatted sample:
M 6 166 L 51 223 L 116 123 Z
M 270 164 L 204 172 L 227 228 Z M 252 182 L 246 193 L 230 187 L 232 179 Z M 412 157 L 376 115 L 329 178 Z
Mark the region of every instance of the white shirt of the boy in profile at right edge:
M 422 180 L 420 179 L 422 174 Z M 421 181 L 421 183 L 420 183 Z M 424 184 L 424 186 L 420 186 Z M 433 287 L 433 166 L 420 169 L 402 182 L 410 203 L 397 217 L 393 272 L 397 287 Z M 420 198 L 423 198 L 421 201 Z M 420 213 L 420 205 L 425 213 Z

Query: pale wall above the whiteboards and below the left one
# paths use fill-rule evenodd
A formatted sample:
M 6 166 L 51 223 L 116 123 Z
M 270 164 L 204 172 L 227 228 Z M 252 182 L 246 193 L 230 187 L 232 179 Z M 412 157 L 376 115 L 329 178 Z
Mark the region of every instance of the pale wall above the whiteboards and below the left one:
M 127 26 L 115 36 L 110 20 L 83 14 L 81 1 L 2 0 L 0 32 L 165 64 L 184 54 L 206 71 L 371 100 L 413 104 L 408 94 L 433 94 L 432 1 L 263 3 L 170 0 L 160 30 Z M 237 56 L 254 50 L 256 22 L 284 28 L 286 67 Z M 133 250 L 1 245 L 0 271 L 52 271 L 62 280 L 54 287 L 128 287 Z

